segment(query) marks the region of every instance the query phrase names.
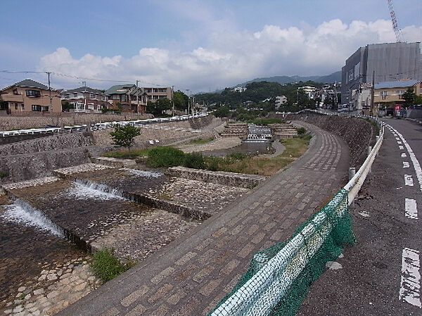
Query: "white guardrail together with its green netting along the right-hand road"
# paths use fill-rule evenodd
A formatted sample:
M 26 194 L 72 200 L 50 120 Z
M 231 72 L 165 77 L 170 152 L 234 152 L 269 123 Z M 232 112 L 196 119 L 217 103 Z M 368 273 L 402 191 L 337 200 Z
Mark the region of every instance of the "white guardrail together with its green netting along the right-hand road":
M 383 122 L 376 122 L 380 127 L 377 142 L 350 182 L 288 241 L 256 253 L 233 291 L 208 316 L 295 315 L 326 263 L 335 260 L 345 244 L 354 244 L 349 206 L 383 141 Z

